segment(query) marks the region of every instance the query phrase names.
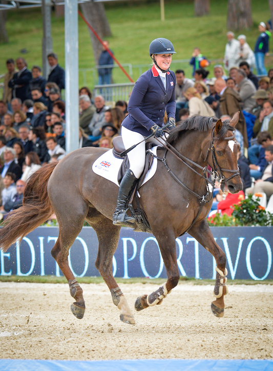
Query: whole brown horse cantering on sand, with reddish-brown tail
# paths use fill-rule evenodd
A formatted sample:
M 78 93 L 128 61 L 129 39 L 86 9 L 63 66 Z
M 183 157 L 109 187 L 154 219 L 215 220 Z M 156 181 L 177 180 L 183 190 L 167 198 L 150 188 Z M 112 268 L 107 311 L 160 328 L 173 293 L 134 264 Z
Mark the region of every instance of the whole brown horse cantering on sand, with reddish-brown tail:
M 221 188 L 225 187 L 230 193 L 242 190 L 237 167 L 239 145 L 234 131 L 238 119 L 238 112 L 229 123 L 216 117 L 190 117 L 170 131 L 165 148 L 158 148 L 156 173 L 138 192 L 140 208 L 158 241 L 167 280 L 155 292 L 136 299 L 137 311 L 161 304 L 178 284 L 175 240 L 187 232 L 216 259 L 216 299 L 211 303 L 211 309 L 217 317 L 224 315 L 226 257 L 214 240 L 206 216 L 212 205 L 215 179 L 219 178 Z M 99 241 L 95 266 L 109 287 L 113 303 L 120 310 L 119 318 L 124 323 L 135 324 L 112 269 L 121 228 L 112 223 L 118 187 L 92 171 L 93 162 L 104 151 L 106 149 L 81 148 L 58 163 L 37 170 L 28 180 L 23 206 L 6 218 L 0 233 L 0 248 L 6 252 L 16 240 L 22 241 L 55 213 L 59 234 L 51 255 L 68 280 L 70 294 L 75 299 L 71 311 L 81 319 L 85 301 L 82 288 L 70 270 L 68 255 L 86 220 Z

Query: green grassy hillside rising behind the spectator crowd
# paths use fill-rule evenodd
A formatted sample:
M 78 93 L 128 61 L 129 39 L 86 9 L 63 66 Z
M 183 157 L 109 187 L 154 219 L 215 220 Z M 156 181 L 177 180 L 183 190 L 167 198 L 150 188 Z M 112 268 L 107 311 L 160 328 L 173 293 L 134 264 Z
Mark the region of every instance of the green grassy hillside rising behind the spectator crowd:
M 193 0 L 165 0 L 165 22 L 160 21 L 159 0 L 140 3 L 104 3 L 107 17 L 113 36 L 109 38 L 110 47 L 121 64 L 132 65 L 150 64 L 148 48 L 151 40 L 156 37 L 170 38 L 177 54 L 174 60 L 188 59 L 195 46 L 199 46 L 202 53 L 209 59 L 222 58 L 226 44 L 226 12 L 227 0 L 211 0 L 211 14 L 205 17 L 194 16 Z M 247 36 L 247 42 L 254 47 L 259 34 L 258 24 L 269 17 L 267 1 L 252 1 L 254 26 L 249 30 L 242 30 Z M 6 72 L 7 58 L 24 56 L 29 67 L 34 64 L 41 66 L 41 39 L 43 37 L 43 23 L 41 9 L 10 10 L 8 12 L 7 30 L 9 43 L 0 45 L 0 74 Z M 53 50 L 59 56 L 59 63 L 65 67 L 65 36 L 64 18 L 56 18 L 52 14 Z M 22 54 L 20 50 L 28 53 Z M 267 59 L 267 65 L 271 59 Z M 90 36 L 86 24 L 79 17 L 79 68 L 94 67 L 94 56 Z M 173 64 L 173 69 L 184 68 L 188 76 L 191 67 L 187 64 Z M 143 69 L 144 72 L 145 69 Z M 133 69 L 133 78 L 137 79 L 139 69 Z M 115 83 L 129 82 L 127 77 L 118 69 L 114 70 Z M 82 74 L 79 75 L 79 85 L 83 83 Z M 97 81 L 93 73 L 87 76 L 90 88 Z

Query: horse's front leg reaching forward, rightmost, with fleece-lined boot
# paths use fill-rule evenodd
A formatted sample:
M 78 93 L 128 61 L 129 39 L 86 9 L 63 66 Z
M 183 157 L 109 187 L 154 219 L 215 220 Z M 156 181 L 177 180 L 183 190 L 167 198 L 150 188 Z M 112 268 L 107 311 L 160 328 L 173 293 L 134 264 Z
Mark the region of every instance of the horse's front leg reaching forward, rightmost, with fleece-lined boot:
M 225 253 L 215 242 L 212 231 L 209 229 L 206 219 L 194 225 L 188 233 L 196 238 L 196 240 L 215 257 L 216 282 L 214 287 L 214 296 L 216 297 L 216 300 L 212 302 L 211 309 L 216 317 L 223 317 L 225 307 L 224 296 L 228 293 L 225 285 L 227 280 Z

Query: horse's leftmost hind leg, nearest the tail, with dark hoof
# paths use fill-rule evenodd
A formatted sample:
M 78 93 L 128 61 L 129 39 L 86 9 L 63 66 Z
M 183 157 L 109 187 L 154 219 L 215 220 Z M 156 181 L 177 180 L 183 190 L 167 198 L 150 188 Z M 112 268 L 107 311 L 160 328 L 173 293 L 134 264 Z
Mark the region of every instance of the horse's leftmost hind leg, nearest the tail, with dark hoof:
M 75 200 L 76 198 L 74 198 L 73 204 Z M 68 280 L 70 295 L 75 299 L 75 302 L 71 304 L 70 307 L 71 312 L 75 317 L 81 319 L 85 314 L 85 301 L 82 296 L 82 288 L 79 286 L 69 267 L 68 255 L 71 245 L 81 231 L 83 221 L 88 212 L 88 205 L 82 199 L 76 201 L 77 204 L 75 208 L 73 208 L 72 205 L 71 210 L 62 212 L 61 215 L 59 215 L 58 211 L 55 209 L 57 220 L 59 222 L 59 236 L 51 250 L 51 255 L 56 260 L 61 272 L 64 273 Z M 72 218 L 69 211 L 72 212 Z

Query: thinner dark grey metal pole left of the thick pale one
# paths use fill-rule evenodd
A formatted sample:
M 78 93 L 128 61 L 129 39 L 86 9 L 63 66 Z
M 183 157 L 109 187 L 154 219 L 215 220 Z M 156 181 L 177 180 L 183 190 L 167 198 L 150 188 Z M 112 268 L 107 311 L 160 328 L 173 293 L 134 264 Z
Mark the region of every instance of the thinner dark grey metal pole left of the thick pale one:
M 51 0 L 42 0 L 41 13 L 43 15 L 43 76 L 47 79 L 49 64 L 47 55 L 52 52 L 51 37 Z

